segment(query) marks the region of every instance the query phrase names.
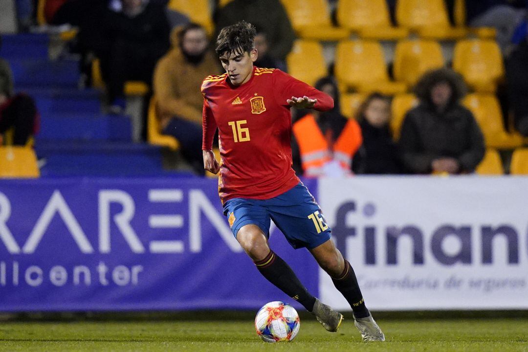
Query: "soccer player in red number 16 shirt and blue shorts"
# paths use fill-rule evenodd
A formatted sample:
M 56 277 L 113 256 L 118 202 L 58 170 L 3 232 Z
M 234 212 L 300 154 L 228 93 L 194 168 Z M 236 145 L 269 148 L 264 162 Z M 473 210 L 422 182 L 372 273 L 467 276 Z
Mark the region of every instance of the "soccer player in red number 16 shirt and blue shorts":
M 224 27 L 216 40 L 225 73 L 202 83 L 204 168 L 220 172 L 219 194 L 231 231 L 268 281 L 312 312 L 326 330 L 340 327 L 343 315 L 312 296 L 269 248 L 273 220 L 293 248 L 307 248 L 332 277 L 354 311 L 363 340 L 383 341 L 354 270 L 330 240 L 319 205 L 291 168 L 290 108 L 325 111 L 334 102 L 280 70 L 254 67 L 255 34 L 255 28 L 242 21 Z M 220 164 L 212 151 L 216 129 Z

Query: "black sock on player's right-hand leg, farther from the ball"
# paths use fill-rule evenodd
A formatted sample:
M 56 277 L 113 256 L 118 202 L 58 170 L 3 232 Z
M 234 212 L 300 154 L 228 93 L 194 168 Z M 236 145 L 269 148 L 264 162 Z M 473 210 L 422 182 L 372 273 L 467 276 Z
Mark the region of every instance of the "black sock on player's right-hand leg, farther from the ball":
M 338 278 L 332 278 L 334 286 L 348 301 L 354 311 L 354 317 L 366 318 L 369 316 L 369 310 L 366 309 L 365 301 L 359 284 L 357 284 L 356 274 L 352 265 L 345 259 L 345 269 Z

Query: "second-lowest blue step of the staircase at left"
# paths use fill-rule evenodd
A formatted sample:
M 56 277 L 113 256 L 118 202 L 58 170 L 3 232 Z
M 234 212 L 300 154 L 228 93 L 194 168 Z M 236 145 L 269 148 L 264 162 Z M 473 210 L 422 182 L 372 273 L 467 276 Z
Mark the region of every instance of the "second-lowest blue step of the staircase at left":
M 131 141 L 131 130 L 127 116 L 41 112 L 41 129 L 36 144 L 44 140 Z

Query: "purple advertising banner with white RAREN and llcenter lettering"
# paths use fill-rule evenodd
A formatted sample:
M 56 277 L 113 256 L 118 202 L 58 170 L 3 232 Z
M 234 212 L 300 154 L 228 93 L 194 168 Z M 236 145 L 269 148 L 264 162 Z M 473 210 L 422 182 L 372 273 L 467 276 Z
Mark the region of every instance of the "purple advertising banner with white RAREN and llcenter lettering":
M 204 178 L 1 181 L 0 311 L 292 303 L 243 253 L 217 189 Z M 276 229 L 270 242 L 318 294 L 312 256 Z

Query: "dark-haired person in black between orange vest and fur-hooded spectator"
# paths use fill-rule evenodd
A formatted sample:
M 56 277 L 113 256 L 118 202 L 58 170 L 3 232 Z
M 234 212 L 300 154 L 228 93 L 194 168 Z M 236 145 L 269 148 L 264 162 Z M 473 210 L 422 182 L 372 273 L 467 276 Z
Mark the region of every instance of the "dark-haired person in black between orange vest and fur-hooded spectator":
M 398 148 L 389 128 L 391 106 L 389 99 L 373 93 L 357 111 L 363 145 L 354 157 L 356 174 L 399 174 L 402 172 Z

